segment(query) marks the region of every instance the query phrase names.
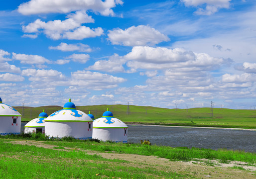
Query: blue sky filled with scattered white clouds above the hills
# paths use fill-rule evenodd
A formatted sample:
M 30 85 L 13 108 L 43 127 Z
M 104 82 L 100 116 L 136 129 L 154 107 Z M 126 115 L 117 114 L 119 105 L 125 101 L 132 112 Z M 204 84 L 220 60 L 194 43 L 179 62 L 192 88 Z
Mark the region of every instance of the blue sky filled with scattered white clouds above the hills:
M 254 109 L 256 0 L 0 0 L 12 106 Z

